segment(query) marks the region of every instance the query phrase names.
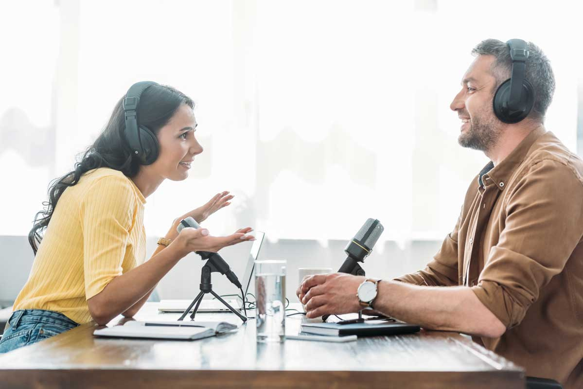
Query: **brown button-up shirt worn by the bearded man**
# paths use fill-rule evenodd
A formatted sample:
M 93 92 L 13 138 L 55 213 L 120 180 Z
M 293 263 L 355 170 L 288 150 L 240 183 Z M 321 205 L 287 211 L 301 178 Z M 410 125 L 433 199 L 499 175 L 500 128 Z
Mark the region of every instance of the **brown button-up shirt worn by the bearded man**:
M 399 281 L 466 285 L 507 330 L 474 338 L 526 375 L 583 388 L 583 162 L 544 127 L 472 181 L 423 271 Z

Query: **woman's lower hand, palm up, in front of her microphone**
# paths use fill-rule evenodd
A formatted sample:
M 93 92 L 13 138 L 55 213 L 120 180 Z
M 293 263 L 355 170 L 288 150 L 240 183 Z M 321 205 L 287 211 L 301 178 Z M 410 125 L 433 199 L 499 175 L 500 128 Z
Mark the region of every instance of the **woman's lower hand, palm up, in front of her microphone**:
M 211 253 L 216 253 L 223 247 L 255 240 L 254 236 L 247 235 L 251 231 L 251 227 L 245 227 L 229 236 L 210 236 L 209 230 L 205 228 L 194 229 L 188 227 L 182 229 L 171 245 L 175 244 L 183 255 L 187 255 L 193 251 L 210 251 Z

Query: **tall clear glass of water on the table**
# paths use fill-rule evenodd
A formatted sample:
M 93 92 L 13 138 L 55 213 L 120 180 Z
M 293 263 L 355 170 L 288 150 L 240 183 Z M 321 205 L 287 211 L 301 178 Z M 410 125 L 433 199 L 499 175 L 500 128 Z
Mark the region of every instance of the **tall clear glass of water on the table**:
M 255 261 L 258 342 L 283 342 L 286 334 L 286 261 Z

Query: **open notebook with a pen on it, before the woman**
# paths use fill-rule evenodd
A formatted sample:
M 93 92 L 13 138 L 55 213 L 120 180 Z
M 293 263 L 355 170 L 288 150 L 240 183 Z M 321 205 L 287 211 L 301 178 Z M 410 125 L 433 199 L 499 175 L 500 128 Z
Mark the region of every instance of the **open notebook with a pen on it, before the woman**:
M 224 321 L 128 321 L 124 325 L 93 331 L 98 337 L 148 339 L 202 339 L 236 330 Z

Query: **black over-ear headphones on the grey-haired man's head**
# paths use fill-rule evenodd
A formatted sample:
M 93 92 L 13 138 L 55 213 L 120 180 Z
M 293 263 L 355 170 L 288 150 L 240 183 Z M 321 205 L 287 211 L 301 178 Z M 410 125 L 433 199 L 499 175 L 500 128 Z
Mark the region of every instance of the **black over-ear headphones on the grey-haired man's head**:
M 526 79 L 528 47 L 522 39 L 506 42 L 512 58 L 512 73 L 494 94 L 494 114 L 505 123 L 518 123 L 531 112 L 535 105 L 535 90 Z

